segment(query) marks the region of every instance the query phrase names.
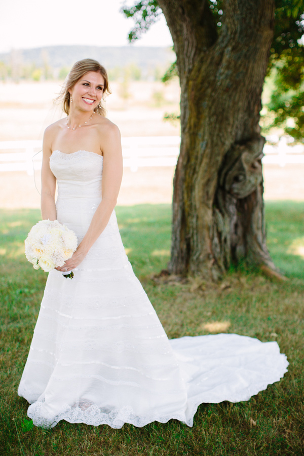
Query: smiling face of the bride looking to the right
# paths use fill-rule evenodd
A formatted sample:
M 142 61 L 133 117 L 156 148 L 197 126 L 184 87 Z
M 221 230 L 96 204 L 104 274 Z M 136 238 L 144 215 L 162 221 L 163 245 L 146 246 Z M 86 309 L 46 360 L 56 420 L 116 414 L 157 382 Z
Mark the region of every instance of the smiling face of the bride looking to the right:
M 101 101 L 103 90 L 104 78 L 100 73 L 95 71 L 85 73 L 69 90 L 73 100 L 72 106 L 80 110 L 92 111 Z

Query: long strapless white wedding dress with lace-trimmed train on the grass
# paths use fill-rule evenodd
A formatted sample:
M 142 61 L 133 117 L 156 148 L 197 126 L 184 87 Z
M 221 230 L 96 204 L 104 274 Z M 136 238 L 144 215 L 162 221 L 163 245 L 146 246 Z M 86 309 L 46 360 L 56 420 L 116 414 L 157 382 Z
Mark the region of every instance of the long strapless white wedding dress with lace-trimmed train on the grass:
M 57 219 L 85 235 L 101 201 L 103 158 L 55 150 Z M 60 420 L 121 428 L 177 419 L 199 404 L 238 402 L 279 381 L 276 342 L 237 334 L 168 337 L 125 254 L 116 215 L 72 280 L 51 271 L 18 394 L 37 426 Z

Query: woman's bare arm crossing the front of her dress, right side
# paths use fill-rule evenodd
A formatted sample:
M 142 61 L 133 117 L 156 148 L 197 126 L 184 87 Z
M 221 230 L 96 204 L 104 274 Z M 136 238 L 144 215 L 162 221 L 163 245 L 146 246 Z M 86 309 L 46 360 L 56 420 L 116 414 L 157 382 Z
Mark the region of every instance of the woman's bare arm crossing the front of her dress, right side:
M 85 237 L 73 256 L 61 268 L 58 268 L 59 271 L 72 271 L 83 261 L 94 242 L 105 229 L 117 203 L 123 175 L 123 157 L 120 131 L 116 125 L 107 126 L 106 132 L 102 134 L 102 144 L 102 201 L 93 215 Z

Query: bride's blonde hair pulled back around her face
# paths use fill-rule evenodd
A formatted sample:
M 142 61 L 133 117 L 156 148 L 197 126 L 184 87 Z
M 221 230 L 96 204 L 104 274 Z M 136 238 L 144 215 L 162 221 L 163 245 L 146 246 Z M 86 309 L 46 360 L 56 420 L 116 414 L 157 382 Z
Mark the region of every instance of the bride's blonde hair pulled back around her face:
M 55 101 L 62 101 L 62 109 L 67 115 L 69 114 L 69 110 L 70 110 L 69 90 L 74 87 L 74 85 L 77 83 L 77 81 L 79 81 L 80 78 L 82 78 L 84 74 L 89 73 L 90 71 L 95 71 L 96 73 L 100 73 L 104 79 L 104 88 L 103 88 L 103 93 L 102 93 L 102 99 L 104 100 L 105 94 L 108 95 L 111 93 L 106 69 L 102 65 L 100 65 L 100 63 L 97 62 L 97 60 L 93 60 L 93 59 L 79 60 L 78 62 L 73 64 L 70 72 L 67 75 L 67 79 L 64 83 L 64 86 L 62 87 L 62 90 L 61 90 L 59 96 L 57 98 L 55 98 Z M 101 104 L 100 104 L 100 107 L 98 105 L 94 109 L 94 112 L 96 112 L 97 114 L 99 114 L 100 116 L 103 116 L 103 117 L 105 117 L 105 115 L 106 115 L 106 110 Z

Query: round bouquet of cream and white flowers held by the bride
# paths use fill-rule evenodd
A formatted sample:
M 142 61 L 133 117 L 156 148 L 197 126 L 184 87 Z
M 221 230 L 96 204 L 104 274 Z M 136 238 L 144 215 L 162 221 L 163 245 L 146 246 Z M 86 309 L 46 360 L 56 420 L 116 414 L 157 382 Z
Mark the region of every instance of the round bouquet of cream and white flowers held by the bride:
M 77 249 L 77 237 L 58 220 L 41 220 L 36 223 L 24 241 L 25 256 L 34 269 L 52 271 L 62 266 Z M 73 278 L 73 272 L 63 274 Z

